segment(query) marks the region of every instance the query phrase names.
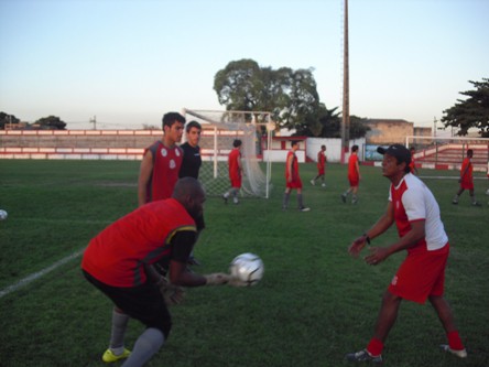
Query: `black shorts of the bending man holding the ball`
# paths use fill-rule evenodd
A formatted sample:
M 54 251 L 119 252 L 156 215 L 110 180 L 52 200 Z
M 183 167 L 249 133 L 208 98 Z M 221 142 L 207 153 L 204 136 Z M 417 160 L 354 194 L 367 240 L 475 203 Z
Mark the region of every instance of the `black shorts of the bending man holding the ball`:
M 161 330 L 165 339 L 169 337 L 172 316 L 163 295 L 154 283 L 146 282 L 131 288 L 111 287 L 98 281 L 85 270 L 82 271 L 91 284 L 106 294 L 127 315 L 139 320 L 146 327 Z

